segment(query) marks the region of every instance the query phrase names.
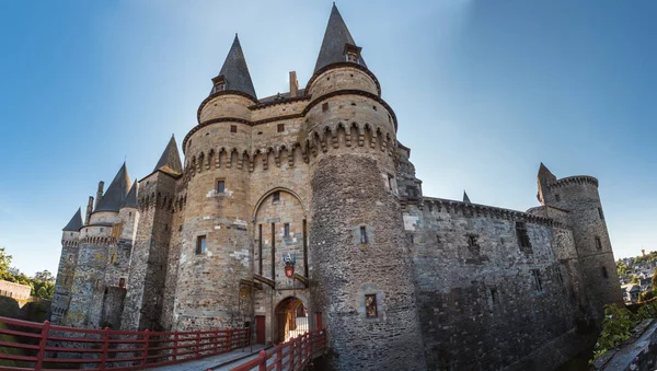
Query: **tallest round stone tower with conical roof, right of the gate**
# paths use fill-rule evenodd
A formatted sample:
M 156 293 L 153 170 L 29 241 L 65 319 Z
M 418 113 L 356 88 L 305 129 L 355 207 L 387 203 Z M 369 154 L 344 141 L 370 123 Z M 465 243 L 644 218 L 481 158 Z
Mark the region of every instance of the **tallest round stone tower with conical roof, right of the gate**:
M 311 294 L 333 367 L 425 369 L 394 179 L 396 121 L 335 5 L 307 92 Z

